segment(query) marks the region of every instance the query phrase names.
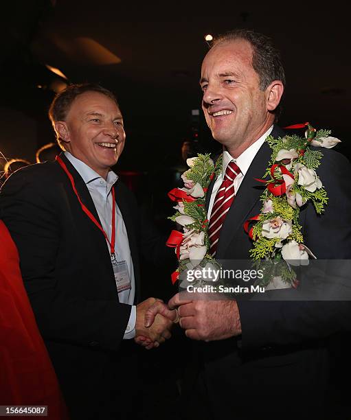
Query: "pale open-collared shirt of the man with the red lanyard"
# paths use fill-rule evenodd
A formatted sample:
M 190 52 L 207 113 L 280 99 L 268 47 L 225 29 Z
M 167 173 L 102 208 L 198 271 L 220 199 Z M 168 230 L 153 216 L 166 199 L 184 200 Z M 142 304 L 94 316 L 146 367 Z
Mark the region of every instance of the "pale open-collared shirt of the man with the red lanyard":
M 65 152 L 65 156 L 76 168 L 77 172 L 83 178 L 84 183 L 87 185 L 91 198 L 93 199 L 95 209 L 98 212 L 102 229 L 104 229 L 107 237 L 109 237 L 111 240 L 111 189 L 113 184 L 117 181 L 118 176 L 115 174 L 115 172 L 109 171 L 109 174 L 107 174 L 107 179 L 104 180 L 104 178 L 92 170 L 91 167 L 74 157 L 71 153 Z M 111 247 L 108 241 L 106 241 L 106 245 L 108 246 L 109 251 L 111 251 Z M 128 233 L 122 218 L 122 213 L 118 208 L 117 203 L 115 206 L 115 255 L 117 261 L 126 261 L 129 277 L 131 279 L 131 289 L 123 290 L 118 294 L 118 299 L 121 303 L 132 305 L 131 315 L 129 316 L 128 325 L 124 334 L 124 339 L 129 339 L 135 337 L 135 323 L 137 319 L 137 310 L 135 305 L 133 305 L 135 297 L 134 266 L 131 257 L 131 250 L 129 248 Z

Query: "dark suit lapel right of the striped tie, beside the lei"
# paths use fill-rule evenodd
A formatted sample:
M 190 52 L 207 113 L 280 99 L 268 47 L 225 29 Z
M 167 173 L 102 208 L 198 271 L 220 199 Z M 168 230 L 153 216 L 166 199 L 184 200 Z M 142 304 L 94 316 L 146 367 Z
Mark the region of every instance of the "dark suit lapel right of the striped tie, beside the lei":
M 273 137 L 283 137 L 284 132 L 274 127 L 271 132 Z M 260 199 L 260 195 L 264 189 L 264 185 L 259 183 L 255 178 L 262 178 L 271 158 L 271 148 L 267 142 L 264 142 L 254 157 L 245 178 L 242 180 L 238 194 L 231 205 L 227 217 L 223 223 L 218 240 L 216 258 L 220 259 L 225 254 L 227 246 L 238 230 L 242 230 L 245 220 L 252 217 L 251 210 Z

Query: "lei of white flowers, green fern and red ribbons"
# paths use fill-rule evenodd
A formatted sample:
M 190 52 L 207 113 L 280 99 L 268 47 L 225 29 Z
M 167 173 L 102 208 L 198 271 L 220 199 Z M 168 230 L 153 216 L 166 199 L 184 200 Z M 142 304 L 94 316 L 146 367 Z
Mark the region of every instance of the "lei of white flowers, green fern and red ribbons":
M 299 209 L 308 200 L 313 203 L 318 214 L 323 213 L 328 196 L 316 169 L 323 154 L 312 150 L 310 145 L 332 148 L 340 142 L 330 137 L 330 130 L 316 130 L 309 123 L 296 124 L 286 128 L 306 127 L 305 138 L 297 135 L 286 135 L 274 139 L 267 137 L 272 149 L 271 159 L 264 174 L 266 179 L 258 179 L 266 184 L 260 200 L 260 213 L 245 222 L 244 229 L 253 240 L 250 256 L 256 264 L 264 269 L 265 276 L 261 282 L 268 285 L 272 279 L 280 279 L 296 287 L 296 275 L 291 266 L 308 264 L 308 257 L 316 258 L 304 245 L 304 237 L 299 224 Z M 183 188 L 174 188 L 168 193 L 170 199 L 177 202 L 177 212 L 170 220 L 183 226 L 183 233 L 172 231 L 167 245 L 176 248 L 179 268 L 172 274 L 172 282 L 177 281 L 179 273 L 189 268 L 190 264 L 205 266 L 214 264 L 209 255 L 210 241 L 207 235 L 208 220 L 205 211 L 207 187 L 214 176 L 222 172 L 222 156 L 216 165 L 210 154 L 198 154 L 187 160 L 190 167 L 181 178 Z M 268 178 L 268 179 L 267 179 Z M 251 224 L 254 226 L 251 227 Z M 277 274 L 275 264 L 285 261 Z

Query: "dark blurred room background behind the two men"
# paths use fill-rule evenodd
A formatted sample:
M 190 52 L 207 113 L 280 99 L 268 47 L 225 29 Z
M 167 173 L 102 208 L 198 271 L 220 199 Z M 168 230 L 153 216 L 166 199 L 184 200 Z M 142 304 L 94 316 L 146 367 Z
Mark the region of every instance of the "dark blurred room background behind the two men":
M 166 193 L 179 183 L 187 150 L 218 148 L 201 111 L 204 36 L 234 27 L 272 36 L 287 79 L 280 126 L 309 121 L 328 128 L 343 141 L 337 150 L 350 159 L 349 26 L 346 5 L 337 1 L 317 7 L 238 1 L 210 8 L 194 1 L 2 3 L 0 151 L 34 163 L 36 150 L 54 141 L 47 110 L 55 92 L 71 82 L 100 82 L 117 95 L 125 120 L 126 148 L 115 170 L 166 234 L 174 228 L 166 219 L 173 213 Z M 0 158 L 0 175 L 4 163 Z M 169 299 L 177 291 L 169 267 L 146 269 L 146 296 Z M 158 394 L 161 408 L 177 400 L 188 341 L 178 329 L 174 334 L 175 344 L 148 353 L 146 404 Z

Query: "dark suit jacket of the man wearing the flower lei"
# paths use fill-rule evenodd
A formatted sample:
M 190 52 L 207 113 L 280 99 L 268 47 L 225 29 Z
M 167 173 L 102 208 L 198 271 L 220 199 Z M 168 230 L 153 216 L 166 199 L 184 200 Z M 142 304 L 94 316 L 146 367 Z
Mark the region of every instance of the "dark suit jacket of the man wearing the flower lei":
M 284 132 L 275 126 L 271 135 L 283 137 Z M 317 172 L 330 200 L 322 216 L 315 213 L 311 203 L 302 209 L 302 233 L 306 246 L 318 259 L 350 259 L 351 188 L 348 177 L 351 166 L 338 152 L 321 151 L 324 157 Z M 271 149 L 264 143 L 227 213 L 216 259 L 250 258 L 252 242 L 243 224 L 260 213 L 262 187 L 254 178 L 262 178 L 270 156 Z M 207 193 L 207 205 L 213 184 L 214 181 Z M 350 303 L 246 299 L 238 301 L 238 308 L 242 336 L 200 343 L 196 356 L 203 360 L 199 383 L 206 390 L 205 398 L 210 401 L 212 417 L 221 419 L 233 410 L 238 419 L 262 414 L 274 418 L 274 410 L 278 416 L 284 406 L 289 408 L 280 412 L 280 416 L 290 412 L 296 414 L 294 408 L 301 412 L 306 404 L 315 406 L 316 401 L 323 399 L 322 385 L 327 380 L 326 338 L 341 329 L 350 329 Z M 291 399 L 297 389 L 292 408 Z

